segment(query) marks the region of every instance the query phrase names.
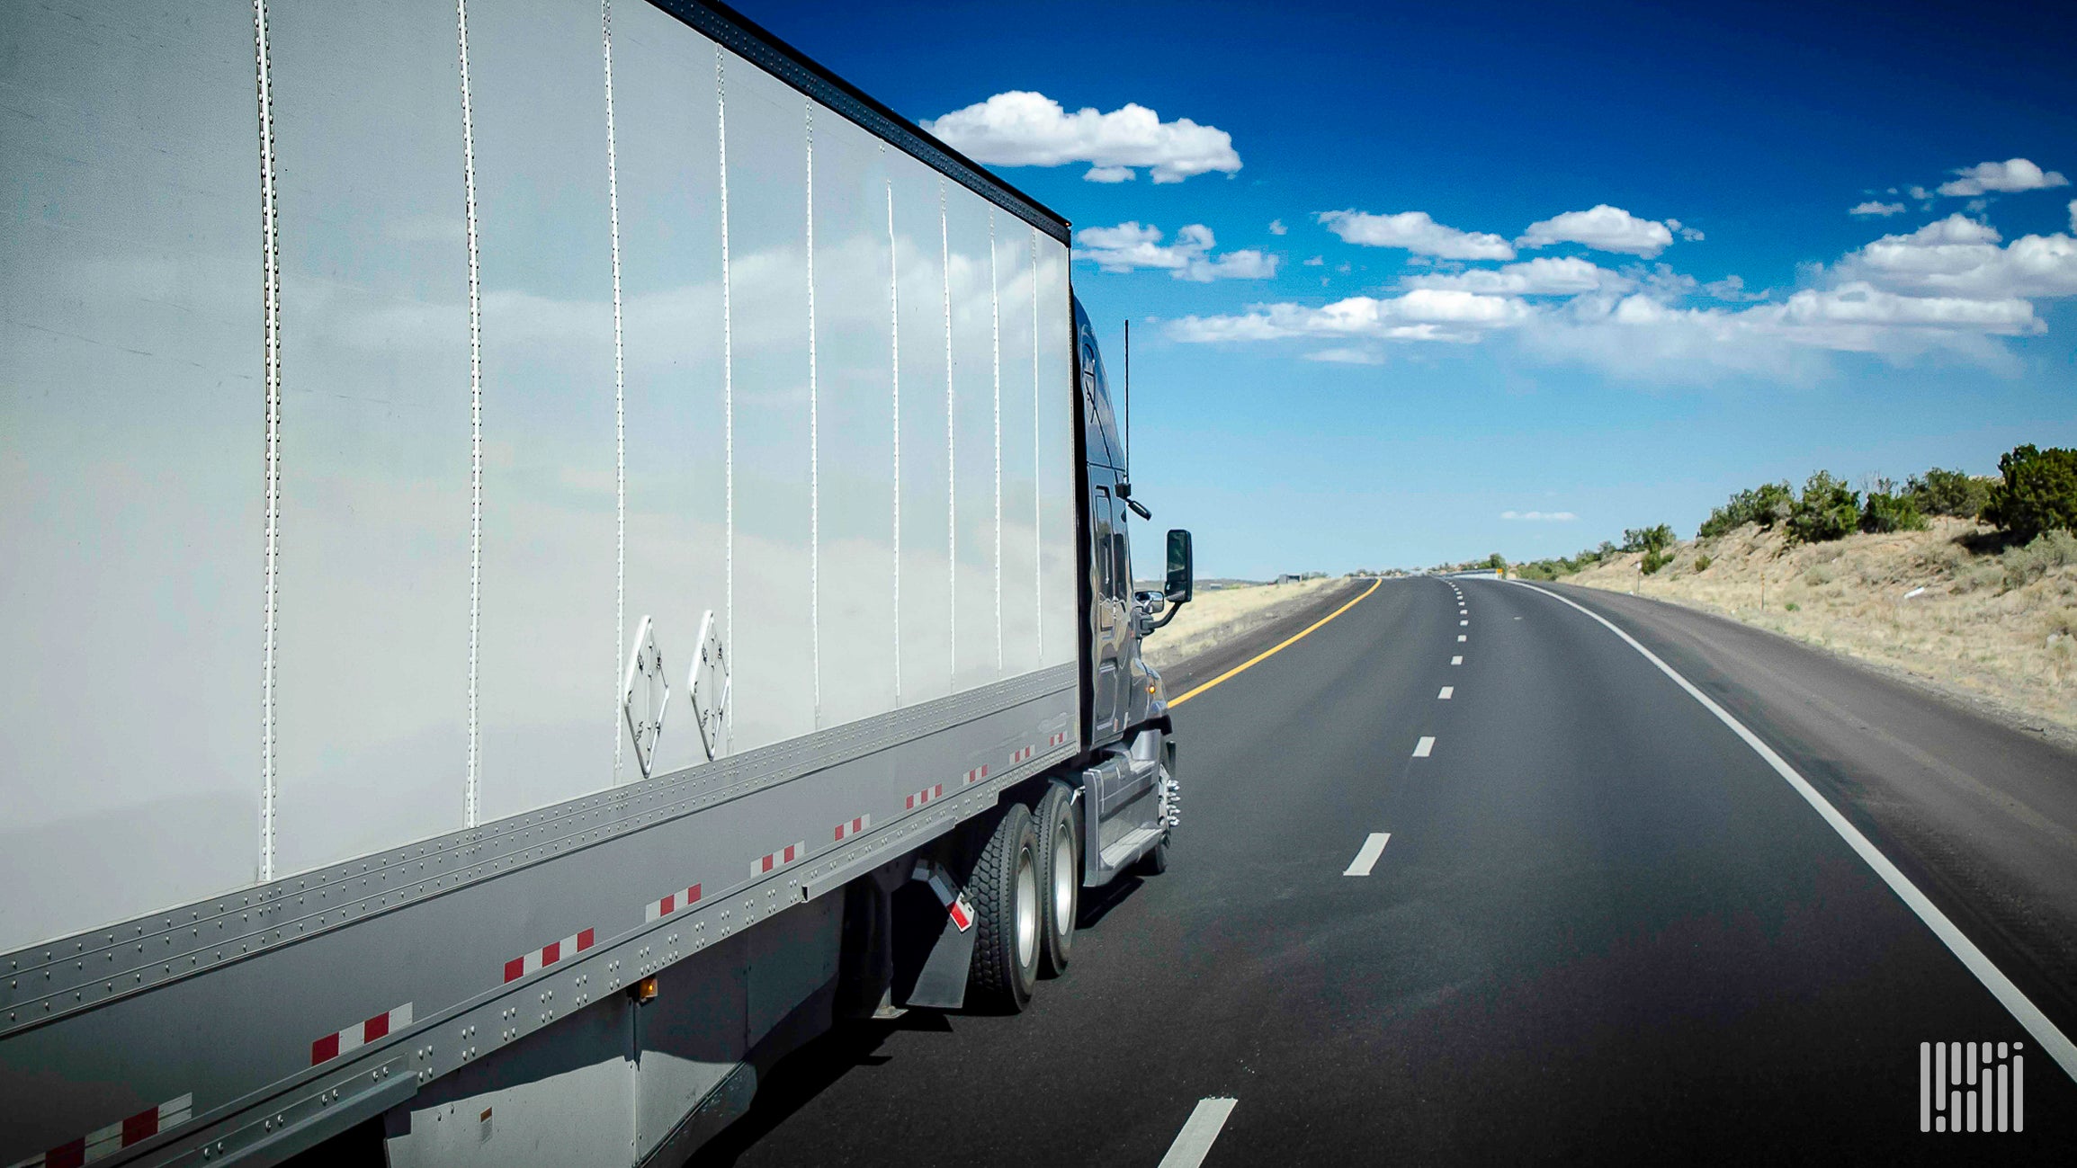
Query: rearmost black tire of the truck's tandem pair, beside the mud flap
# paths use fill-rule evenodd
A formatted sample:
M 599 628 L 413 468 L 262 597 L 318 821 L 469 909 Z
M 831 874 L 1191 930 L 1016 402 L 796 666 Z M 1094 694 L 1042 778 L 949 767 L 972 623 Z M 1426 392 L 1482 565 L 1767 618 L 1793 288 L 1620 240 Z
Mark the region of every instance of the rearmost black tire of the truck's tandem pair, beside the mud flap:
M 966 975 L 972 1008 L 1016 1014 L 1038 985 L 1038 832 L 1030 809 L 1011 803 L 980 849 L 966 884 L 974 902 L 974 965 Z

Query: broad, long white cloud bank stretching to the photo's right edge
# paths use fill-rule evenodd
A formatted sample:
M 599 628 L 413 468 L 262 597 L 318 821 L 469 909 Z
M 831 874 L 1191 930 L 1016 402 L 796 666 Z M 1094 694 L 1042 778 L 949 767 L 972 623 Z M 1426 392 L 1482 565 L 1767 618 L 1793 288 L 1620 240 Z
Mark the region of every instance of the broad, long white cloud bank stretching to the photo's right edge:
M 1836 353 L 1890 361 L 1946 353 L 2011 369 L 2002 338 L 2048 328 L 2033 301 L 2077 297 L 2077 201 L 2069 212 L 2071 234 L 2011 243 L 1988 222 L 1952 214 L 1805 268 L 1792 295 L 1749 293 L 1736 276 L 1705 284 L 1668 263 L 1612 272 L 1583 257 L 1444 261 L 1408 270 L 1400 295 L 1263 303 L 1167 328 L 1190 342 L 1331 340 L 1302 355 L 1338 363 L 1383 361 L 1396 340 L 1506 338 L 1531 357 L 1647 382 L 1745 373 L 1809 384 Z M 1670 241 L 1670 220 L 1655 226 Z

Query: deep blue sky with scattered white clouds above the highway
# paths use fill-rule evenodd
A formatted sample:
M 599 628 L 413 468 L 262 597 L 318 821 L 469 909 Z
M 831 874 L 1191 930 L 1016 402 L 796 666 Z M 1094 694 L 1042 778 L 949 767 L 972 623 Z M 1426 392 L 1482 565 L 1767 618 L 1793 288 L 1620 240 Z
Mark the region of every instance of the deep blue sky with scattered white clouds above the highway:
M 2067 10 L 746 12 L 1095 228 L 1136 485 L 1211 575 L 1535 558 L 1819 467 L 2077 446 Z

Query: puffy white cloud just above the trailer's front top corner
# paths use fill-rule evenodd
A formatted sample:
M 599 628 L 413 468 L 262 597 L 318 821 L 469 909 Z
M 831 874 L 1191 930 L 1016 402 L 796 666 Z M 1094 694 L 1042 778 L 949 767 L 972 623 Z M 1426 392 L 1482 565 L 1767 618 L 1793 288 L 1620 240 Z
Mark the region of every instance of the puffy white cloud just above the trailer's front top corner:
M 1234 135 L 1190 118 L 1163 122 L 1147 106 L 1126 104 L 1109 114 L 1095 108 L 1068 112 L 1045 93 L 1011 89 L 922 124 L 953 149 L 991 166 L 1090 164 L 1090 183 L 1122 183 L 1149 168 L 1155 183 L 1182 183 L 1213 170 L 1234 174 L 1240 154 Z

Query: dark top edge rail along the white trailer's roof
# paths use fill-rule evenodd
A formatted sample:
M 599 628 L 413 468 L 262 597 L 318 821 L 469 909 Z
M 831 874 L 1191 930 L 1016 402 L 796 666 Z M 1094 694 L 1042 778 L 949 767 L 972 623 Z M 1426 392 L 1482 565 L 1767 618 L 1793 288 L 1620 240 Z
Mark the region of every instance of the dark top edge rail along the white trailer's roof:
M 1059 243 L 1074 243 L 1068 220 L 1032 199 L 972 158 L 889 110 L 864 89 L 837 77 L 791 44 L 719 0 L 648 0 L 729 52 L 764 68 L 808 98 L 837 110 L 860 127 L 916 156 L 962 187 L 1022 218 Z

